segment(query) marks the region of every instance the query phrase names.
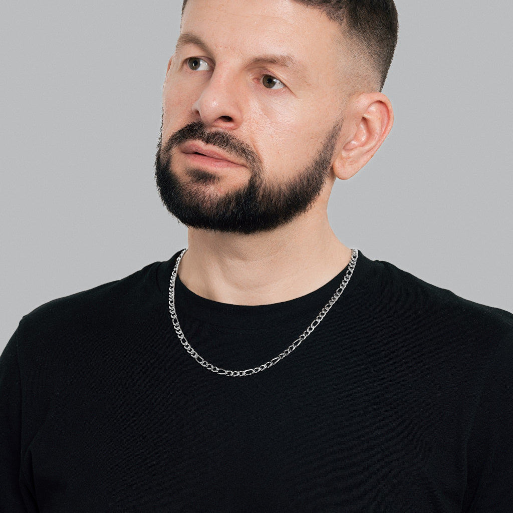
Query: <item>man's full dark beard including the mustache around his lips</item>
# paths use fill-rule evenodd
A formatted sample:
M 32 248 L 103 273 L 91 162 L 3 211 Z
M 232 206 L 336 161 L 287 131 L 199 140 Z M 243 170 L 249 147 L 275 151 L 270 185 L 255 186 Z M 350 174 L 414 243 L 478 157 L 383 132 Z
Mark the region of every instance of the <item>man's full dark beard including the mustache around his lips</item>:
M 246 143 L 223 130 L 208 131 L 200 122 L 177 130 L 162 147 L 162 127 L 155 157 L 155 180 L 162 203 L 190 228 L 225 233 L 258 233 L 289 223 L 309 210 L 318 198 L 333 158 L 342 122 L 327 133 L 312 161 L 282 183 L 265 179 L 260 157 Z M 172 151 L 187 141 L 214 145 L 238 157 L 250 171 L 247 184 L 215 195 L 206 188 L 218 177 L 201 169 L 188 169 L 189 182 L 179 180 L 171 166 Z

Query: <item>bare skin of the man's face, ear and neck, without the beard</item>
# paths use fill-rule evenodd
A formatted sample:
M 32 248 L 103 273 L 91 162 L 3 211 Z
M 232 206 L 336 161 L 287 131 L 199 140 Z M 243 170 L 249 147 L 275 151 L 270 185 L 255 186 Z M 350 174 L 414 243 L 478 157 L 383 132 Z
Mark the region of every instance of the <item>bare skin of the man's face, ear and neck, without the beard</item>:
M 319 288 L 347 265 L 350 251 L 327 219 L 331 188 L 368 162 L 393 114 L 388 98 L 373 90 L 372 74 L 355 71 L 340 39 L 337 24 L 292 0 L 189 0 L 164 83 L 163 144 L 201 121 L 246 143 L 264 180 L 279 185 L 343 120 L 328 179 L 306 213 L 250 235 L 189 229 L 179 275 L 193 292 L 225 303 L 275 303 Z M 195 70 L 188 65 L 193 57 L 202 60 Z M 269 76 L 278 88 L 264 86 Z M 179 147 L 171 165 L 183 183 L 194 180 L 191 162 L 213 176 L 194 183 L 207 198 L 240 189 L 250 177 L 244 165 L 199 163 Z

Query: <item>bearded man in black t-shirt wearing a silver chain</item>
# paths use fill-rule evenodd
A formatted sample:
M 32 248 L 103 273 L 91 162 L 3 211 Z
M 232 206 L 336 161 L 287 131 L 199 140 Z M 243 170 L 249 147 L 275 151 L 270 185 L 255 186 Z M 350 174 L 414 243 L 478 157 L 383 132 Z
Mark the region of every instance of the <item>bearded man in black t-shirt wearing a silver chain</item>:
M 184 4 L 155 175 L 188 249 L 23 318 L 6 511 L 511 511 L 513 316 L 326 216 L 396 37 L 391 0 Z

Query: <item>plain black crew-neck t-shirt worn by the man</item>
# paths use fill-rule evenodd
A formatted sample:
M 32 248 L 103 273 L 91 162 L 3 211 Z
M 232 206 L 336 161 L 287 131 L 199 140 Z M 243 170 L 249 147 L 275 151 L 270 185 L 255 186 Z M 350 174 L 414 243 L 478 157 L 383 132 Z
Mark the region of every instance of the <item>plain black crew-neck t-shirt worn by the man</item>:
M 513 511 L 513 315 L 360 253 L 297 349 L 220 376 L 174 332 L 175 257 L 22 319 L 0 360 L 1 511 Z M 177 280 L 176 311 L 205 360 L 252 368 L 344 273 L 262 306 Z

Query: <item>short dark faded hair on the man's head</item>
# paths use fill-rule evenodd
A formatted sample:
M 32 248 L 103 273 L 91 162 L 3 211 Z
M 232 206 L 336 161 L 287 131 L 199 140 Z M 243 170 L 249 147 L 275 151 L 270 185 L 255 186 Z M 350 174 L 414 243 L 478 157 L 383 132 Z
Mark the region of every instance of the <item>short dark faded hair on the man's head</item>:
M 363 50 L 376 70 L 383 88 L 397 45 L 399 22 L 393 0 L 294 0 L 298 4 L 320 9 L 342 27 L 342 33 L 357 55 Z M 187 0 L 182 5 L 184 13 Z

